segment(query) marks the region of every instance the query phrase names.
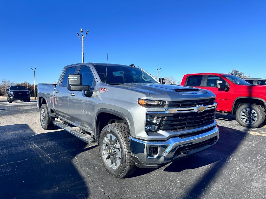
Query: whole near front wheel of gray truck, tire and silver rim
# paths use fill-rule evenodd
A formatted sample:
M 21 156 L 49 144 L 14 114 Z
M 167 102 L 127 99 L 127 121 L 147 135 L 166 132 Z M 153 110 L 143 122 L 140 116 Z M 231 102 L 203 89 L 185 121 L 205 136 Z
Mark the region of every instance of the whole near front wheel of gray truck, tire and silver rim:
M 103 166 L 115 178 L 130 175 L 137 168 L 131 155 L 126 124 L 108 124 L 102 129 L 99 152 Z

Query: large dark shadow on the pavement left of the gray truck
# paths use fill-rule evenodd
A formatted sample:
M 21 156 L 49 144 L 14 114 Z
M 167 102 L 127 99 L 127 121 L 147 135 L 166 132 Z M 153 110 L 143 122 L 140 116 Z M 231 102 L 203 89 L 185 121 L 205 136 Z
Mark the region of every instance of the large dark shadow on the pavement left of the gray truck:
M 63 130 L 35 135 L 27 124 L 0 126 L 0 143 L 0 198 L 89 196 L 72 161 L 95 146 Z

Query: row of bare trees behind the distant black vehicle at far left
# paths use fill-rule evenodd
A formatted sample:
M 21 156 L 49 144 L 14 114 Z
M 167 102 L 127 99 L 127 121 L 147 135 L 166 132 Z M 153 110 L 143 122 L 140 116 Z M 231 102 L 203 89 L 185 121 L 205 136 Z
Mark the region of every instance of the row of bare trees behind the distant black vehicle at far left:
M 34 94 L 34 84 L 30 84 L 28 81 L 23 81 L 22 83 L 16 83 L 15 81 L 10 81 L 6 79 L 1 79 L 0 81 L 0 94 L 7 95 L 6 89 L 10 86 L 25 86 L 30 90 L 31 95 Z M 35 90 L 37 91 L 37 85 L 35 85 Z

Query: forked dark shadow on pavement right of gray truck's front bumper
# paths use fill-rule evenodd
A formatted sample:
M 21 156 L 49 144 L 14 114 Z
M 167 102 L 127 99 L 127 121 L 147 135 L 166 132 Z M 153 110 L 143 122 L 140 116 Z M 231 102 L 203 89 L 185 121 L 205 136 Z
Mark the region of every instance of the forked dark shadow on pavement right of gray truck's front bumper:
M 189 169 L 196 169 L 214 163 L 211 168 L 207 168 L 200 178 L 194 183 L 193 187 L 187 190 L 182 199 L 202 198 L 203 191 L 211 186 L 212 181 L 218 177 L 230 157 L 244 140 L 247 130 L 239 131 L 236 129 L 219 126 L 219 140 L 211 148 L 190 156 L 186 159 L 171 163 L 164 171 L 181 172 Z

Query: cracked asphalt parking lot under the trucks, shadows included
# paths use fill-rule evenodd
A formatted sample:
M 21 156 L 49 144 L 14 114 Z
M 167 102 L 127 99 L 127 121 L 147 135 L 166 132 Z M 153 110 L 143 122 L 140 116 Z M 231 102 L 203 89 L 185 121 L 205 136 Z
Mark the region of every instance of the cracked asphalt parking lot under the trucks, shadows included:
M 212 148 L 116 179 L 97 145 L 43 130 L 36 102 L 0 100 L 0 198 L 266 198 L 266 128 L 217 122 Z

